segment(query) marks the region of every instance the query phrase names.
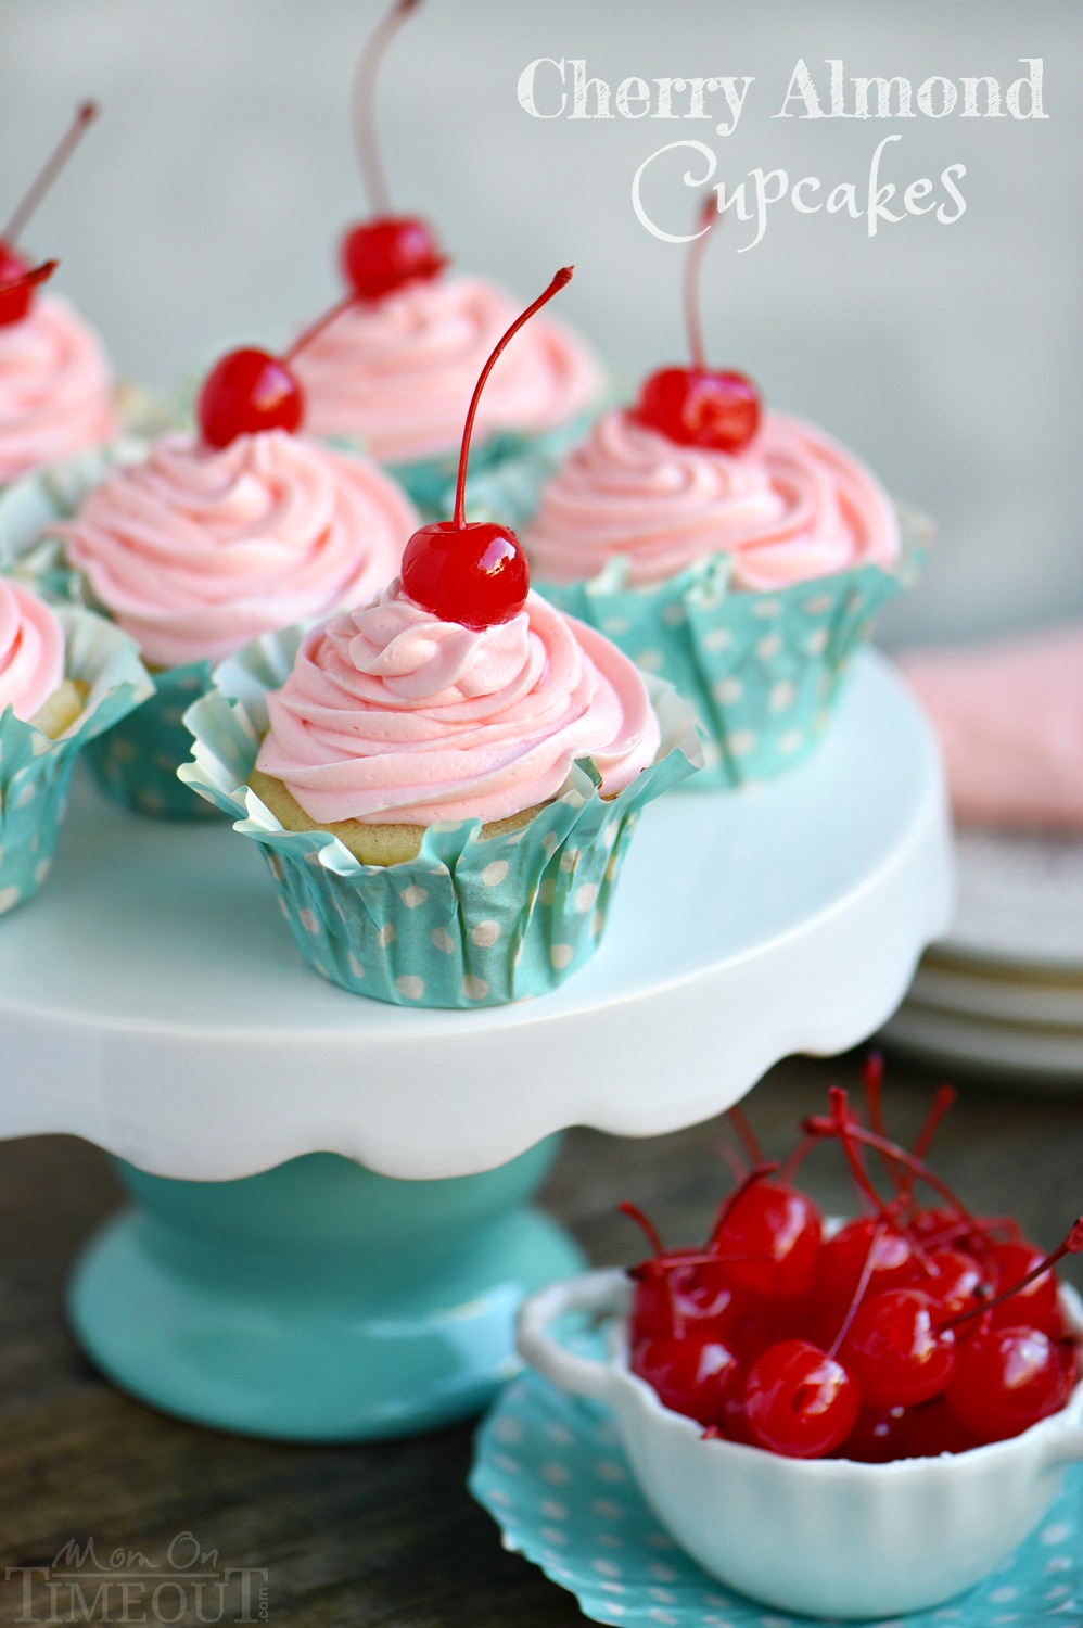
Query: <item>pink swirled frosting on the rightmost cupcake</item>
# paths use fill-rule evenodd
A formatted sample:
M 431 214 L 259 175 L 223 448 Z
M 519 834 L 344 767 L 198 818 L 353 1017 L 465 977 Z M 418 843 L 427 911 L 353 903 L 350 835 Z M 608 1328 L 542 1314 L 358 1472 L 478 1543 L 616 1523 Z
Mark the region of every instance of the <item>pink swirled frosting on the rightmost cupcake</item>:
M 609 412 L 546 485 L 523 540 L 542 581 L 581 581 L 620 557 L 645 586 L 728 554 L 739 589 L 891 565 L 901 549 L 876 477 L 782 414 L 767 414 L 744 451 L 712 453 Z

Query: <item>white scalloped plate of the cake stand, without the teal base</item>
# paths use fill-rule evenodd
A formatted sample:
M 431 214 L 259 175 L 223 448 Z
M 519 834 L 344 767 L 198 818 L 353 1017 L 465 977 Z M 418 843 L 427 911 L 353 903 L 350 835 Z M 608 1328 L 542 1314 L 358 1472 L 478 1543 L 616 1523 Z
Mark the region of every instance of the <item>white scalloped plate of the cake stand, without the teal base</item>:
M 594 959 L 485 1011 L 324 983 L 254 843 L 77 785 L 46 889 L 0 920 L 0 1135 L 70 1131 L 221 1180 L 318 1149 L 469 1175 L 568 1125 L 677 1130 L 787 1053 L 875 1031 L 949 894 L 936 751 L 876 656 L 785 778 L 653 804 Z

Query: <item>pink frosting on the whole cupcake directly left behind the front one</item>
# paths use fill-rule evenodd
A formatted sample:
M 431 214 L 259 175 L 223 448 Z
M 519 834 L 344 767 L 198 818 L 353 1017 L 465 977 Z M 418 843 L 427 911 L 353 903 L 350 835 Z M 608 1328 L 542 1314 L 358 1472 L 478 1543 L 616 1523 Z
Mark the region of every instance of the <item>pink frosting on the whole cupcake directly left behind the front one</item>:
M 160 667 L 366 599 L 419 524 L 375 464 L 270 430 L 221 451 L 168 435 L 68 526 L 68 558 Z

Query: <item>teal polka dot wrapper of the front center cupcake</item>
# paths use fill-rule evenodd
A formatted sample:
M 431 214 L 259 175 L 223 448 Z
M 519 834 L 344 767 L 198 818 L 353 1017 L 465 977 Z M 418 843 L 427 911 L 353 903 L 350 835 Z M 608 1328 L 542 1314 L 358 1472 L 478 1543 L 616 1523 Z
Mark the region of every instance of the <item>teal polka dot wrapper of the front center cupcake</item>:
M 415 860 L 362 864 L 329 832 L 283 830 L 248 786 L 267 692 L 285 682 L 298 640 L 256 640 L 217 671 L 186 715 L 194 760 L 179 773 L 261 845 L 309 967 L 397 1006 L 503 1006 L 563 983 L 598 947 L 640 809 L 700 760 L 689 708 L 651 682 L 661 751 L 616 798 L 598 794 L 585 760 L 521 830 L 480 837 L 479 821 L 441 822 Z

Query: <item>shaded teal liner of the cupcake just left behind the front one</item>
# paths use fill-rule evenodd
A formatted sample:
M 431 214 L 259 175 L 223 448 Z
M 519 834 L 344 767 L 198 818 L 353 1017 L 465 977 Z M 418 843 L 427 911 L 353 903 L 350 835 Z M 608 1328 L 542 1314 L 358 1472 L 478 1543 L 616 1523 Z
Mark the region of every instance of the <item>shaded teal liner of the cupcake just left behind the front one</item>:
M 153 819 L 217 819 L 218 811 L 178 780 L 192 736 L 184 713 L 210 689 L 210 661 L 155 672 L 155 694 L 86 749 L 86 767 L 114 803 Z

